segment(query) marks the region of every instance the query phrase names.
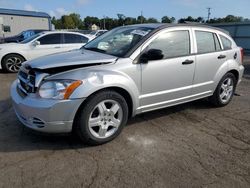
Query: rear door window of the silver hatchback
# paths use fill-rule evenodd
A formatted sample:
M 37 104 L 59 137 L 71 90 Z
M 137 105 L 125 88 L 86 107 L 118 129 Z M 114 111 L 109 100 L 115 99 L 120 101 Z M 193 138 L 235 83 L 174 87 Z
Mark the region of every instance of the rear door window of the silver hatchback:
M 219 50 L 219 41 L 214 33 L 195 31 L 198 53 L 209 53 Z

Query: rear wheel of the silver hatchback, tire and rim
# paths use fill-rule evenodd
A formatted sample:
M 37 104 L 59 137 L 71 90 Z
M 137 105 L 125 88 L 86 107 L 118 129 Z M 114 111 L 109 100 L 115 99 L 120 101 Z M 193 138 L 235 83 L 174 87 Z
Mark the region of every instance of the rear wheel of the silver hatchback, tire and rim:
M 209 98 L 209 101 L 216 107 L 223 107 L 230 103 L 236 89 L 236 78 L 234 74 L 227 73 L 220 80 L 214 91 L 214 94 Z

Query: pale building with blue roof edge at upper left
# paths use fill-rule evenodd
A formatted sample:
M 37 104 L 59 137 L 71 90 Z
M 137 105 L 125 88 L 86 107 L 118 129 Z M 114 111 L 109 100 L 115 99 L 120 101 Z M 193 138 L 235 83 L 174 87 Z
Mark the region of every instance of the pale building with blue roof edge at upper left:
M 0 8 L 0 36 L 17 35 L 28 29 L 51 30 L 51 17 L 44 12 Z

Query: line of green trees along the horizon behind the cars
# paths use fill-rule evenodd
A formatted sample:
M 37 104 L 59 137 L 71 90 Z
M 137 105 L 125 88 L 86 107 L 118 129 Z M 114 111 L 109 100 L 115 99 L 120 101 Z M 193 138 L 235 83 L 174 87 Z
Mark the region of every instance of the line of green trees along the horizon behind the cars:
M 174 17 L 163 16 L 161 18 L 162 23 L 174 23 L 176 20 Z M 181 18 L 178 20 L 178 23 L 186 22 L 199 22 L 199 23 L 224 23 L 224 22 L 242 22 L 250 21 L 247 18 L 238 17 L 234 15 L 228 15 L 224 18 L 213 18 L 209 21 L 205 21 L 202 17 L 193 18 L 188 16 L 186 18 Z M 90 27 L 95 24 L 102 29 L 113 29 L 122 25 L 132 25 L 138 23 L 158 23 L 156 18 L 150 17 L 145 18 L 144 16 L 138 16 L 137 18 L 126 17 L 124 14 L 117 14 L 117 18 L 97 18 L 93 16 L 87 16 L 84 19 L 81 19 L 81 16 L 76 13 L 71 13 L 69 15 L 63 15 L 60 19 L 53 17 L 51 19 L 52 24 L 55 25 L 56 29 L 90 29 Z

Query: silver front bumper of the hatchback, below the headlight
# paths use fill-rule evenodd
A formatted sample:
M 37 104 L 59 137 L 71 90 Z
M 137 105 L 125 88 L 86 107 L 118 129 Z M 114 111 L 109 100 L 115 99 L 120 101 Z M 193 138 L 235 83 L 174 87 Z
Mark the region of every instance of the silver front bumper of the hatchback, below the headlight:
M 23 97 L 17 89 L 17 81 L 11 86 L 11 98 L 16 115 L 25 126 L 47 133 L 71 132 L 75 114 L 84 101 Z

